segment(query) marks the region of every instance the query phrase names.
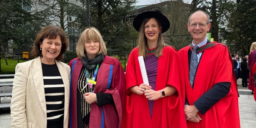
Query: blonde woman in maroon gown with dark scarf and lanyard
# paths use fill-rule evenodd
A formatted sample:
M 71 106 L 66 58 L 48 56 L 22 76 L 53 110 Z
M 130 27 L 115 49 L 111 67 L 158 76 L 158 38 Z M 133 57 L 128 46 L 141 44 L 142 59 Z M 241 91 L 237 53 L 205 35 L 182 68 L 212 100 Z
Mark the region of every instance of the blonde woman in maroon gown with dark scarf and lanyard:
M 69 127 L 120 128 L 125 102 L 121 63 L 107 56 L 105 42 L 96 28 L 86 28 L 71 60 Z

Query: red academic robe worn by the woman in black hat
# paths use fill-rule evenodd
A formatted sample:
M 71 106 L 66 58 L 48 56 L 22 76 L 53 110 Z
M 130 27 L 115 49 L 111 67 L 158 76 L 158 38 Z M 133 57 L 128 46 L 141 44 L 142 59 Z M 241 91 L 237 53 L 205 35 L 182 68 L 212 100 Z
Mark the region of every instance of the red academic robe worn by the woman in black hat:
M 125 72 L 126 79 L 126 111 L 124 111 L 123 128 L 187 128 L 184 102 L 184 72 L 180 56 L 171 47 L 165 46 L 158 60 L 156 88 L 164 89 L 172 85 L 177 92 L 171 96 L 154 101 L 152 119 L 150 117 L 148 99 L 128 89 L 143 83 L 138 60 L 138 49 L 134 48 L 129 56 Z

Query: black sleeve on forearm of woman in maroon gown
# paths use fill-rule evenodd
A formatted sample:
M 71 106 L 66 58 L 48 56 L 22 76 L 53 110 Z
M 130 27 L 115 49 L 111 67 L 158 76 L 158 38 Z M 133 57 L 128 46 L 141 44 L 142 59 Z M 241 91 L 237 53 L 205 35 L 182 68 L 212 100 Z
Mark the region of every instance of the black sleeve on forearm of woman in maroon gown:
M 114 100 L 111 94 L 97 92 L 96 97 L 97 97 L 96 103 L 98 107 L 114 103 Z

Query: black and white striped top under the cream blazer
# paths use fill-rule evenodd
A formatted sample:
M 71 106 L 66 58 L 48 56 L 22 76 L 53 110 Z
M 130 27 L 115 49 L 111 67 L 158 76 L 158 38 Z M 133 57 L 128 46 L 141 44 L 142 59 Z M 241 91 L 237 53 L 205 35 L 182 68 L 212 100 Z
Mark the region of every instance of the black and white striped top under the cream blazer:
M 47 128 L 63 128 L 64 84 L 56 64 L 42 63 L 46 100 Z

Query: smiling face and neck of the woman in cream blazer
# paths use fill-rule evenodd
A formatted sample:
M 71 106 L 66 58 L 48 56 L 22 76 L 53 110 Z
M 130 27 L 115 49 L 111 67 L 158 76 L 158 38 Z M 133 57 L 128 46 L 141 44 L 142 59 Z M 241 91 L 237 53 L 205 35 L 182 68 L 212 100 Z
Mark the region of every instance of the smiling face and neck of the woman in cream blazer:
M 41 62 L 44 64 L 54 64 L 54 59 L 60 54 L 61 46 L 60 36 L 57 36 L 55 39 L 44 38 L 40 44 L 43 55 Z

